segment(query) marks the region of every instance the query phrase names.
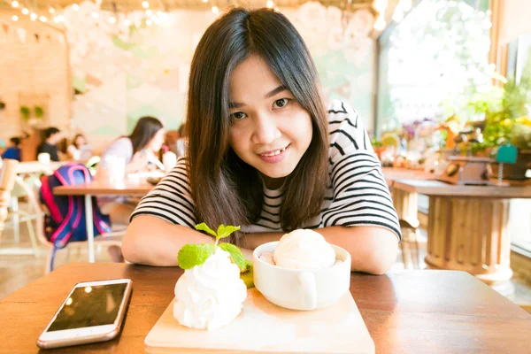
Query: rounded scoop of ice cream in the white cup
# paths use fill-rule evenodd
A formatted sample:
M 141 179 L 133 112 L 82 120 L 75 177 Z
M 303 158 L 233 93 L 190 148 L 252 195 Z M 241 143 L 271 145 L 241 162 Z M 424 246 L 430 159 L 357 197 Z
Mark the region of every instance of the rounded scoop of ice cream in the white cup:
M 282 236 L 274 250 L 273 260 L 275 265 L 283 268 L 327 268 L 335 263 L 335 250 L 315 231 L 297 229 Z

